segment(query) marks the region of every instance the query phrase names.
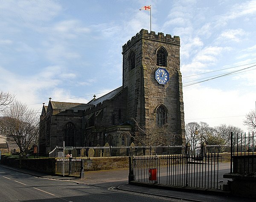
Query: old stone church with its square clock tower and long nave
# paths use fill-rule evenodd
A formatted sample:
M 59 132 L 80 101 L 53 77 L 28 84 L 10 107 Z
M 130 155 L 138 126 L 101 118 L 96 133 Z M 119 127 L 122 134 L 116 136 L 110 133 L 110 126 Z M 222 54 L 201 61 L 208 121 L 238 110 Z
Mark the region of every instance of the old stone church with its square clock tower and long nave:
M 142 29 L 122 46 L 122 86 L 84 103 L 49 98 L 40 117 L 39 153 L 56 146 L 128 146 L 131 119 L 147 128 L 167 125 L 185 143 L 180 38 Z

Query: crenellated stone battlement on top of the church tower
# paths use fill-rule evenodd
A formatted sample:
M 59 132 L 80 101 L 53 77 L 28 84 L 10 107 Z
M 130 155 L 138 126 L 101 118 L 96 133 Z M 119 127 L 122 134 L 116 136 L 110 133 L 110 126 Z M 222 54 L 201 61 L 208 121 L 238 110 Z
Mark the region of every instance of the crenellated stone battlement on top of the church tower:
M 123 52 L 127 51 L 131 46 L 134 45 L 134 43 L 137 43 L 141 39 L 157 40 L 157 41 L 172 43 L 180 46 L 180 37 L 178 36 L 172 37 L 172 35 L 170 34 L 166 34 L 164 36 L 162 32 L 158 32 L 158 34 L 156 34 L 154 31 L 151 31 L 150 33 L 148 33 L 148 30 L 142 29 L 135 36 L 131 37 L 131 40 L 128 40 L 128 42 L 122 46 Z

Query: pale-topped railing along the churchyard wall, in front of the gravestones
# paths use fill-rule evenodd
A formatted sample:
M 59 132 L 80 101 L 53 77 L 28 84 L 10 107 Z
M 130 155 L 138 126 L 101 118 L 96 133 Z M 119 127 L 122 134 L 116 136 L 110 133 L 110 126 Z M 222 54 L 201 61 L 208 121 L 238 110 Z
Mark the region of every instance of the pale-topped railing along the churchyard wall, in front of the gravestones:
M 107 157 L 107 156 L 146 156 L 146 155 L 171 155 L 185 154 L 186 146 L 110 146 L 110 147 L 68 147 L 64 156 L 69 157 Z M 63 147 L 57 146 L 49 153 L 49 157 L 62 157 Z

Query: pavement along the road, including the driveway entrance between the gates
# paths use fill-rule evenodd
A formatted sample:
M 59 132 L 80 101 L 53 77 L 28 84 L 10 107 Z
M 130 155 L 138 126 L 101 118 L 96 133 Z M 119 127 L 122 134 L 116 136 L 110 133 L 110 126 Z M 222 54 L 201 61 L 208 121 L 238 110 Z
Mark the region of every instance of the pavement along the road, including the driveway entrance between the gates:
M 84 179 L 69 176 L 56 176 L 43 174 L 36 171 L 30 171 L 22 168 L 12 168 L 0 164 L 0 167 L 5 167 L 25 174 L 33 176 L 55 179 L 55 180 L 69 180 L 79 185 L 93 185 L 105 188 L 115 188 L 119 191 L 129 191 L 134 193 L 150 194 L 154 196 L 166 196 L 169 198 L 185 198 L 189 201 L 223 201 L 223 202 L 239 202 L 241 198 L 233 198 L 229 192 L 220 190 L 207 190 L 198 188 L 173 188 L 170 186 L 155 186 L 149 183 L 144 184 L 128 184 L 128 169 L 120 170 L 103 170 L 103 171 L 87 171 L 84 172 Z M 199 193 L 199 194 L 198 194 Z M 196 195 L 196 196 L 195 196 Z M 242 201 L 251 201 L 250 199 L 242 199 Z

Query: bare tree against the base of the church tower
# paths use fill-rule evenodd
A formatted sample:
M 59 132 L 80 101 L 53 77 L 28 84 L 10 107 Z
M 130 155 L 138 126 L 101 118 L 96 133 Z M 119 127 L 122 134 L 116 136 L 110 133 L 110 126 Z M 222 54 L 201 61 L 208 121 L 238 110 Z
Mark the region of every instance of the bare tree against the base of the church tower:
M 152 147 L 161 145 L 174 145 L 175 135 L 168 132 L 166 125 L 163 126 L 151 126 L 147 130 L 140 127 L 135 119 L 132 119 L 135 123 L 135 131 L 130 132 L 130 136 L 140 142 L 141 144 Z

